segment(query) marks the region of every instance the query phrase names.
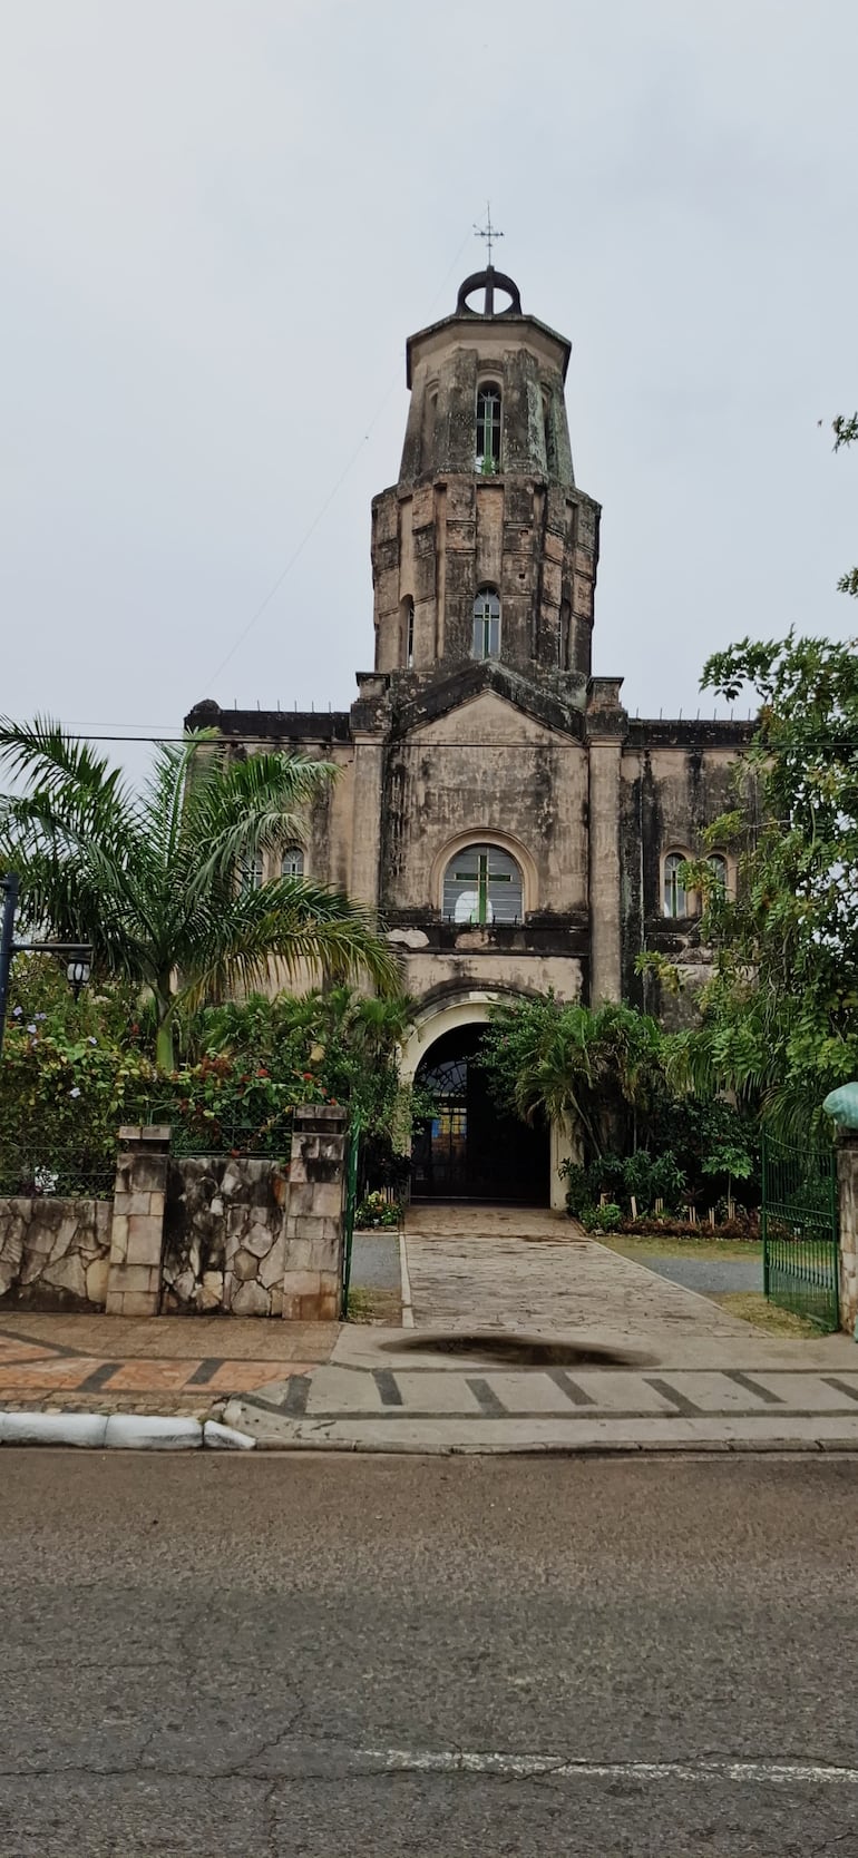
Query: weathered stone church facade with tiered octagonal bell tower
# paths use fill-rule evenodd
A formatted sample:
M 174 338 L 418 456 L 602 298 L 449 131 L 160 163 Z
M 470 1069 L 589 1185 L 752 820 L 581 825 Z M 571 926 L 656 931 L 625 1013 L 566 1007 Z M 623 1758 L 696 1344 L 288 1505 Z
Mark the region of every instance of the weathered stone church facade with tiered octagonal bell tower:
M 427 1195 L 561 1200 L 563 1135 L 501 1128 L 485 1100 L 490 1007 L 544 994 L 676 1011 L 635 972 L 657 949 L 706 974 L 678 868 L 732 805 L 750 726 L 639 721 L 592 674 L 600 505 L 576 483 L 570 344 L 513 279 L 466 279 L 410 336 L 396 485 L 373 500 L 375 663 L 347 712 L 221 710 L 188 726 L 334 762 L 305 870 L 371 905 L 418 1001 L 403 1076 L 440 1113 L 414 1143 Z M 735 879 L 728 851 L 719 875 Z

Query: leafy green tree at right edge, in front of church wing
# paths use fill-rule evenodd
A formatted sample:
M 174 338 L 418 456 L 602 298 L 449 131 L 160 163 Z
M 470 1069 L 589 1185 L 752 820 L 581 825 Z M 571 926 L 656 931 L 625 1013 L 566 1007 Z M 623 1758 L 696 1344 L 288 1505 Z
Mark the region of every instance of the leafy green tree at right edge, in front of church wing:
M 797 1135 L 858 1074 L 856 643 L 741 639 L 708 660 L 702 686 L 728 699 L 750 686 L 760 713 L 737 769 L 743 805 L 708 834 L 737 851 L 735 896 L 706 858 L 687 868 L 715 972 L 700 1027 L 670 1040 L 670 1078 L 730 1089 Z

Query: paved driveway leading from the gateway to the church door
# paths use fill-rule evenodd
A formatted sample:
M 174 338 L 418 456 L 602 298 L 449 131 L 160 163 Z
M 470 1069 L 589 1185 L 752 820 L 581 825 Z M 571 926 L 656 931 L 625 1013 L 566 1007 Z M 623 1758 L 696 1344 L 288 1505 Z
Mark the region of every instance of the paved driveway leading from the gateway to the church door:
M 409 1208 L 418 1328 L 587 1330 L 615 1345 L 669 1351 L 747 1340 L 748 1325 L 706 1297 L 585 1237 L 542 1208 Z

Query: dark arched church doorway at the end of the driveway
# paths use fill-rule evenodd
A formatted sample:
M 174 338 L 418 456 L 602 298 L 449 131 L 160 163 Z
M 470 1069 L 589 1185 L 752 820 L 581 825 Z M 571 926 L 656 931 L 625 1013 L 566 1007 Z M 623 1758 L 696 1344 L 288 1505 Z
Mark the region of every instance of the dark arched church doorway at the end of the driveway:
M 548 1130 L 496 1109 L 475 1063 L 483 1035 L 483 1026 L 455 1026 L 420 1061 L 414 1081 L 431 1091 L 435 1117 L 414 1130 L 412 1198 L 546 1206 Z

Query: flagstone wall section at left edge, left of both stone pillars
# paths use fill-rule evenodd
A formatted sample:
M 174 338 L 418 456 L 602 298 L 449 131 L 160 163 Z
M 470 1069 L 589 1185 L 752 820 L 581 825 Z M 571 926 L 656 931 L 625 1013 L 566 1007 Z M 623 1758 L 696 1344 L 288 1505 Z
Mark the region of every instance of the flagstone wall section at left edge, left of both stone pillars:
M 35 1310 L 102 1310 L 110 1200 L 0 1200 L 0 1297 Z

